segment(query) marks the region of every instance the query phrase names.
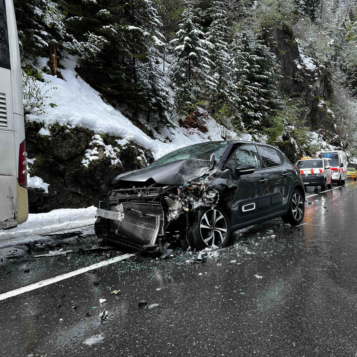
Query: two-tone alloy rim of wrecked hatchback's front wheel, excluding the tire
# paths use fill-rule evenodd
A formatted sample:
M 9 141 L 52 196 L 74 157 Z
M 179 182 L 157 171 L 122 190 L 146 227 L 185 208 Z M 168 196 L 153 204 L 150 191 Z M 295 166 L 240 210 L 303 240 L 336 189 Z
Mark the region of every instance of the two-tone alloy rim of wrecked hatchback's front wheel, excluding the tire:
M 200 222 L 200 233 L 207 246 L 220 246 L 227 236 L 227 222 L 222 212 L 212 208 L 206 211 Z

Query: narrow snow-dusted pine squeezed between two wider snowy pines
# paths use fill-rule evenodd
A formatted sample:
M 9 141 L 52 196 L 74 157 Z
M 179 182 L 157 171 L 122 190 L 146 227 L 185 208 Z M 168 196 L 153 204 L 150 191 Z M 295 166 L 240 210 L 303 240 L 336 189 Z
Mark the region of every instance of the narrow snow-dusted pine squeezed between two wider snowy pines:
M 227 101 L 234 102 L 234 85 L 230 76 L 230 56 L 228 54 L 227 0 L 215 0 L 210 12 L 211 24 L 204 39 L 208 50 L 208 64 L 211 69 L 206 76 L 210 90 L 210 112 L 220 110 Z

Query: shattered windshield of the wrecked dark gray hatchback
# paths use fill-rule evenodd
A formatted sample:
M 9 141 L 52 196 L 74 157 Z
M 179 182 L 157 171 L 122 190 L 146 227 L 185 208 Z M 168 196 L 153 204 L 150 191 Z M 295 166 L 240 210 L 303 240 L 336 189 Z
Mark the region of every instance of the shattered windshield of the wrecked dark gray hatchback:
M 215 153 L 215 161 L 218 161 L 223 155 L 226 146 L 226 141 L 211 141 L 182 147 L 181 149 L 177 149 L 170 152 L 170 154 L 160 157 L 160 159 L 154 161 L 150 166 L 159 166 L 169 162 L 186 159 L 210 160 L 212 153 Z

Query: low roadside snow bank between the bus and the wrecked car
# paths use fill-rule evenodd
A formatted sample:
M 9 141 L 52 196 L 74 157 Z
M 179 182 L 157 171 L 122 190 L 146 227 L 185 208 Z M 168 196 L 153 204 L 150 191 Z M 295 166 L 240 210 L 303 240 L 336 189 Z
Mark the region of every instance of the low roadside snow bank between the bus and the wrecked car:
M 30 213 L 25 223 L 14 229 L 0 231 L 0 242 L 16 238 L 28 238 L 94 224 L 96 207 L 61 208 L 47 213 Z

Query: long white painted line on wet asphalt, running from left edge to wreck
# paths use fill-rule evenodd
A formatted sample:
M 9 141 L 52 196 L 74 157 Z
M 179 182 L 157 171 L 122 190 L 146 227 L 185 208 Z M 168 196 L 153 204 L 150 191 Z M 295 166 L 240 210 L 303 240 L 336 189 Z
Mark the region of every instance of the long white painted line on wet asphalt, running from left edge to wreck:
M 44 287 L 44 286 L 47 286 L 47 285 L 51 285 L 53 283 L 57 283 L 57 282 L 59 282 L 61 280 L 65 280 L 65 279 L 71 278 L 73 276 L 85 273 L 85 272 L 87 272 L 89 270 L 92 270 L 92 269 L 105 267 L 107 265 L 110 265 L 110 264 L 119 262 L 121 260 L 133 257 L 133 256 L 135 256 L 137 254 L 139 254 L 139 252 L 120 255 L 120 256 L 117 256 L 117 257 L 114 257 L 114 258 L 110 258 L 108 260 L 105 260 L 105 261 L 102 261 L 102 262 L 99 262 L 99 263 L 95 263 L 95 264 L 87 266 L 85 268 L 80 268 L 78 270 L 74 270 L 74 271 L 71 271 L 71 272 L 66 273 L 66 274 L 55 276 L 54 278 L 49 278 L 49 279 L 46 279 L 46 280 L 42 280 L 42 281 L 40 281 L 38 283 L 34 283 L 34 284 L 31 284 L 31 285 L 24 286 L 22 288 L 18 288 L 18 289 L 15 289 L 15 290 L 11 290 L 11 291 L 5 292 L 3 294 L 0 294 L 0 301 L 1 300 L 5 300 L 5 299 L 7 299 L 9 297 L 13 297 L 13 296 L 16 296 L 16 295 L 23 294 L 24 292 L 32 291 L 32 290 L 35 290 L 35 289 L 38 289 L 38 288 L 41 288 L 41 287 Z

